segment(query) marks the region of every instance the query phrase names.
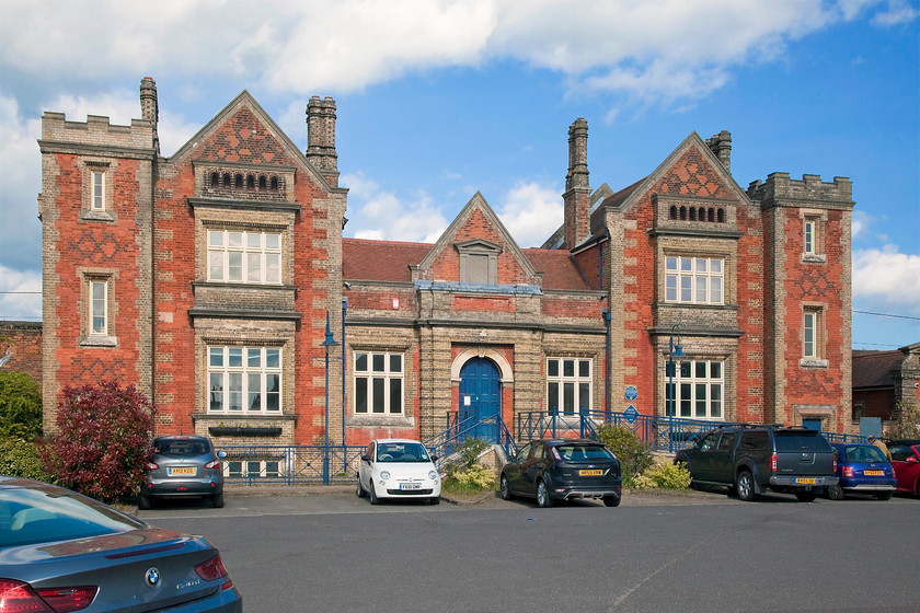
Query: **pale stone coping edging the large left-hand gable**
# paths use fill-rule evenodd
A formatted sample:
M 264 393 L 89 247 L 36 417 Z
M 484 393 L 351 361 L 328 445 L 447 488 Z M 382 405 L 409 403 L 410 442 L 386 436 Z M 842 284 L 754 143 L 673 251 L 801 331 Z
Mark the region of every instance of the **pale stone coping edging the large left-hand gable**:
M 183 144 L 171 158 L 168 159 L 168 162 L 172 164 L 179 164 L 184 162 L 185 160 L 195 157 L 196 154 L 200 154 L 202 148 L 205 143 L 207 143 L 210 139 L 215 137 L 215 135 L 231 122 L 234 116 L 237 116 L 242 111 L 248 109 L 253 114 L 255 120 L 268 132 L 268 135 L 278 143 L 278 147 L 284 152 L 284 157 L 290 161 L 290 163 L 302 167 L 311 178 L 322 186 L 327 192 L 340 192 L 341 188 L 332 187 L 325 177 L 311 164 L 303 152 L 298 149 L 298 147 L 294 143 L 294 141 L 288 138 L 288 136 L 275 124 L 274 119 L 265 112 L 264 108 L 255 101 L 255 99 L 246 90 L 240 92 L 240 94 L 234 97 L 230 104 L 223 107 L 220 113 L 214 116 L 214 118 L 205 124 L 200 130 L 195 134 L 185 144 Z M 278 163 L 277 159 L 274 160 L 265 160 L 261 161 L 262 164 L 272 164 Z

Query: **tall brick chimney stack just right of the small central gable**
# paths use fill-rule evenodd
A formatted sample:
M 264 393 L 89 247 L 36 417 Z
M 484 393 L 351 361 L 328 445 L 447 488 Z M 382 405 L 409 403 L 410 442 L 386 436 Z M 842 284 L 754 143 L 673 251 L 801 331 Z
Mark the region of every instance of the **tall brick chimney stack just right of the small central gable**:
M 591 233 L 591 188 L 588 184 L 588 123 L 584 117 L 568 128 L 568 174 L 565 175 L 564 243 L 573 248 Z

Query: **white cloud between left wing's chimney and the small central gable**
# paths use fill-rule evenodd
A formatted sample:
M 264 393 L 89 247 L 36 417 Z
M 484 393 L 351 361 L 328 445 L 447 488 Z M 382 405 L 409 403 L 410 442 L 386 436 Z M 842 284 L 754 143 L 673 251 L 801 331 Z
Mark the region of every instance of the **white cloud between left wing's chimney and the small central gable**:
M 343 174 L 340 185 L 349 188 L 348 209 L 355 211 L 345 213 L 355 219 L 345 233 L 356 239 L 434 243 L 447 229 L 444 212 L 424 193 L 404 201 L 364 173 Z

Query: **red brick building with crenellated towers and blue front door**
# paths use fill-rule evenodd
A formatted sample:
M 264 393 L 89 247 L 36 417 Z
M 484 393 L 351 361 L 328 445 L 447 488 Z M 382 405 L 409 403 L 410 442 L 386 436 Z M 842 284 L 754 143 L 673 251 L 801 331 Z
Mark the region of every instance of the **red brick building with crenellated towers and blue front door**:
M 243 92 L 163 158 L 152 80 L 140 95 L 130 126 L 43 118 L 48 424 L 62 386 L 117 378 L 162 432 L 223 443 L 426 439 L 458 409 L 514 429 L 629 404 L 852 430 L 846 178 L 741 188 L 723 131 L 594 190 L 578 119 L 542 248 L 481 194 L 434 244 L 353 240 L 332 100 L 310 101 L 306 152 Z

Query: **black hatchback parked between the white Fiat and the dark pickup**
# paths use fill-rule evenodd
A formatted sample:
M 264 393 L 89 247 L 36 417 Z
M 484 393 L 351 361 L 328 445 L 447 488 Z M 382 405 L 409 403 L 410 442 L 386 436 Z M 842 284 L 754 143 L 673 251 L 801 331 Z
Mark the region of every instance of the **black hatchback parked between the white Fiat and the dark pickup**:
M 553 500 L 594 498 L 618 507 L 622 495 L 620 461 L 603 444 L 585 439 L 533 440 L 502 469 L 499 495 Z

